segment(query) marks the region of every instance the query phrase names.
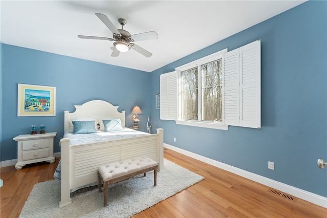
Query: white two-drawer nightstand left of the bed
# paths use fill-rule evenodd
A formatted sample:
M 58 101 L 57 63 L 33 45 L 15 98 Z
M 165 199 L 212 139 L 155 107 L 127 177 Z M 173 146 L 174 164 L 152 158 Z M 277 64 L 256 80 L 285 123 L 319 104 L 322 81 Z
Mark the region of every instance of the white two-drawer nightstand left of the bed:
M 57 133 L 25 134 L 13 138 L 17 141 L 17 163 L 16 169 L 30 163 L 47 161 L 55 162 L 54 138 Z

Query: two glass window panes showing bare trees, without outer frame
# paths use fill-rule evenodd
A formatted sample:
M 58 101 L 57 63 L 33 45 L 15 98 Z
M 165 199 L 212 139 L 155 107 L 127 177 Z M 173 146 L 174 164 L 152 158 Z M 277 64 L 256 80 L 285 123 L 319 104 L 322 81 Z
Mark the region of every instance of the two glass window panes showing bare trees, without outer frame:
M 181 74 L 181 119 L 200 121 L 222 121 L 222 60 L 221 58 L 182 71 Z M 200 69 L 200 74 L 198 74 Z M 199 79 L 201 77 L 201 79 Z M 201 81 L 200 83 L 198 81 Z M 201 97 L 199 98 L 199 84 Z M 201 102 L 201 104 L 199 104 Z

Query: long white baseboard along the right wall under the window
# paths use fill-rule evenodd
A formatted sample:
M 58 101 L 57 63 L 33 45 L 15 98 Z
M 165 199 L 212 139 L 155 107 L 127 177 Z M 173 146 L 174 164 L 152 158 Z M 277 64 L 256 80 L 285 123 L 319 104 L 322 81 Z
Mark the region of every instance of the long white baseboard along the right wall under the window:
M 296 187 L 293 187 L 293 186 L 290 186 L 290 185 L 287 185 L 287 184 L 284 184 L 284 183 L 281 183 L 281 182 L 278 182 L 278 181 L 275 181 L 275 180 L 272 180 L 272 179 L 269 179 L 269 178 L 266 178 L 266 177 L 263 177 L 260 175 L 256 175 L 255 173 L 252 173 L 252 172 L 249 172 L 249 171 L 246 171 L 246 170 L 234 167 L 234 166 L 230 166 L 228 164 L 224 164 L 222 162 L 215 161 L 213 159 L 203 157 L 201 155 L 195 154 L 193 152 L 190 152 L 190 151 L 187 151 L 187 150 L 184 150 L 184 149 L 181 149 L 181 148 L 178 148 L 178 147 L 166 144 L 166 143 L 164 143 L 164 147 L 174 150 L 174 151 L 177 151 L 183 155 L 197 159 L 204 163 L 207 163 L 207 164 L 216 166 L 218 168 L 224 169 L 226 171 L 235 173 L 236 175 L 247 178 L 249 180 L 261 183 L 263 185 L 277 189 L 279 191 L 283 191 L 285 193 L 293 195 L 296 198 L 303 199 L 305 201 L 308 201 L 313 204 L 319 205 L 321 207 L 327 208 L 327 198 L 320 196 L 318 194 L 311 193 L 309 191 L 302 190 L 302 189 L 299 189 L 299 188 L 296 188 Z

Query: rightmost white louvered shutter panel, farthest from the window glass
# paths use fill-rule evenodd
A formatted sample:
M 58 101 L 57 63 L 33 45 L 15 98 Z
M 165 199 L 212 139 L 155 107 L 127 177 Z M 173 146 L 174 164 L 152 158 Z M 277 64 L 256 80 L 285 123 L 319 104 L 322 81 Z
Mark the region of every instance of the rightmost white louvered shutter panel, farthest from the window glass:
M 240 48 L 240 126 L 261 128 L 260 40 Z

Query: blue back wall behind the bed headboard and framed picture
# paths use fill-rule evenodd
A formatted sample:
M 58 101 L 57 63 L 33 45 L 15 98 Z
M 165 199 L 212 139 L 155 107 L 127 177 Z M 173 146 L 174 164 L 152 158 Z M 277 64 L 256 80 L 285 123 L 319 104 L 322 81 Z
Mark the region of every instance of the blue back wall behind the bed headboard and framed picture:
M 2 44 L 2 139 L 1 160 L 17 158 L 13 138 L 30 134 L 31 124 L 45 124 L 46 132 L 57 132 L 55 152 L 63 136 L 63 112 L 89 100 L 105 100 L 126 111 L 126 126 L 132 125 L 133 106 L 143 114 L 137 117 L 146 131 L 150 115 L 150 74 L 52 53 Z M 17 83 L 56 87 L 56 116 L 17 117 Z M 137 89 L 135 89 L 135 85 Z

